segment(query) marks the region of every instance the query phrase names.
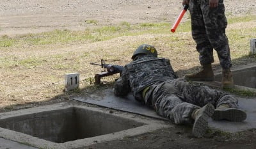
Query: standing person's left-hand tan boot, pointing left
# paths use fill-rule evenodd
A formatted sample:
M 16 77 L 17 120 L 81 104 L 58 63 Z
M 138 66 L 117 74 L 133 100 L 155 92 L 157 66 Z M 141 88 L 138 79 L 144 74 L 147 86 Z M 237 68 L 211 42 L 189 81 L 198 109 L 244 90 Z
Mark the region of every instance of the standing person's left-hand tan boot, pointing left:
M 202 70 L 195 74 L 185 75 L 186 81 L 213 81 L 214 74 L 211 64 L 202 65 Z

